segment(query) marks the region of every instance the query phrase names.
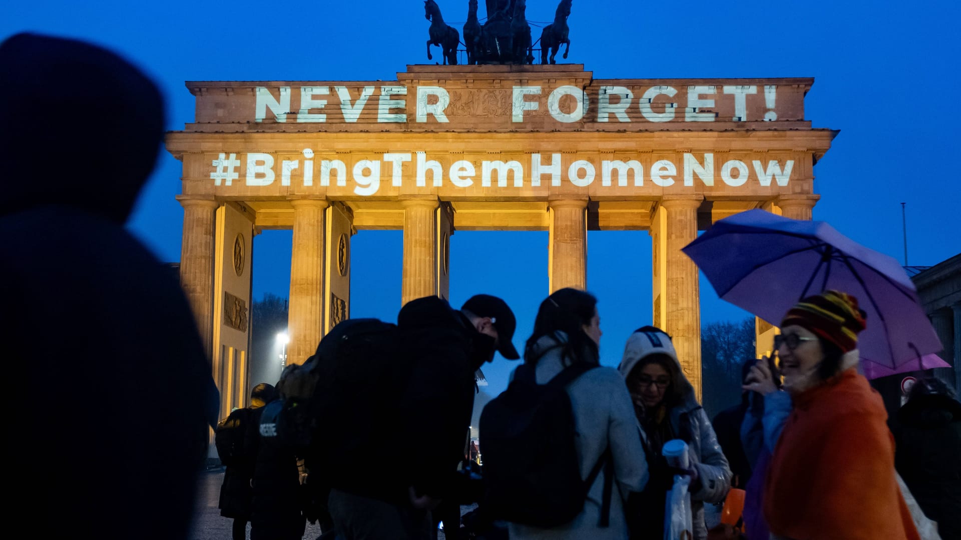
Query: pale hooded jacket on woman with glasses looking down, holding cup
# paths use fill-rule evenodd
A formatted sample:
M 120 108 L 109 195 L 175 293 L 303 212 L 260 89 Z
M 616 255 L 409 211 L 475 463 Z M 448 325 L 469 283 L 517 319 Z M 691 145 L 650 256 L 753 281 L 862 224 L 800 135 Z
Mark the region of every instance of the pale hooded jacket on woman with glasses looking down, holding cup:
M 625 346 L 624 357 L 618 371 L 621 372 L 624 379 L 627 379 L 630 372 L 641 363 L 644 357 L 654 353 L 665 354 L 674 360 L 677 368 L 675 373 L 678 374 L 678 380 L 674 382 L 680 396 L 680 403 L 668 410 L 666 421 L 670 423 L 675 433 L 686 434 L 690 438 L 690 440 L 685 439 L 685 442 L 688 445 L 692 465 L 698 469 L 701 484 L 698 489 L 691 493 L 693 532 L 695 540 L 704 540 L 707 538 L 707 526 L 704 523 L 704 503 L 721 503 L 725 500 L 727 490 L 730 488 L 730 467 L 721 445 L 718 444 L 717 435 L 711 427 L 710 419 L 701 404 L 698 403 L 694 387 L 684 377 L 683 369 L 678 362 L 678 355 L 673 344 L 671 344 L 670 338 L 662 332 L 657 335 L 659 339 L 655 338 L 654 341 L 658 344 L 653 346 L 647 332 L 631 334 Z M 622 383 L 624 382 L 622 381 Z M 645 438 L 645 444 L 647 443 L 647 438 Z

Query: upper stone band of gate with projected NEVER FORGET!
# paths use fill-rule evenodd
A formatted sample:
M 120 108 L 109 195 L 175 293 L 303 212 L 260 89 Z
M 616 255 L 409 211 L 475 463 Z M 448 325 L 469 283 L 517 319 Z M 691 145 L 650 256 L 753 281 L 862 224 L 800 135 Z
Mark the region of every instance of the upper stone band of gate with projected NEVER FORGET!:
M 813 79 L 601 80 L 579 64 L 505 67 L 413 65 L 393 82 L 188 82 L 197 123 L 187 130 L 810 128 Z

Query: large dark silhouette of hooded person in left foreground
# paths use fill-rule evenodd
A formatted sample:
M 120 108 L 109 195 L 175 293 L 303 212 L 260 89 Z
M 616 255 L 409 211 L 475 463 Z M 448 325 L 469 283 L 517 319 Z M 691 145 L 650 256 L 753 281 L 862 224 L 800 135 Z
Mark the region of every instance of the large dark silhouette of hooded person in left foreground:
M 0 44 L 0 342 L 23 388 L 4 488 L 28 527 L 189 527 L 216 388 L 179 283 L 123 228 L 162 138 L 160 91 L 127 61 Z

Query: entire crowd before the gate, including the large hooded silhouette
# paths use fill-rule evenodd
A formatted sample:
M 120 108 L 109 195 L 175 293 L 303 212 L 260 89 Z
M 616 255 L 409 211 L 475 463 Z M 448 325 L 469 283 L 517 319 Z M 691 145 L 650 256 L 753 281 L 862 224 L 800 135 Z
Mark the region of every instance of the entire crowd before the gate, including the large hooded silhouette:
M 99 85 L 62 92 L 70 78 Z M 32 35 L 0 44 L 0 80 L 0 160 L 17 181 L 0 191 L 0 287 L 15 314 L 0 331 L 15 380 L 41 389 L 12 401 L 29 411 L 11 415 L 29 441 L 12 445 L 13 462 L 38 465 L 10 480 L 19 520 L 53 512 L 99 538 L 183 538 L 216 425 L 234 538 L 248 523 L 255 540 L 301 538 L 309 519 L 328 538 L 427 539 L 435 515 L 449 538 L 664 538 L 678 479 L 697 540 L 718 532 L 704 507 L 732 486 L 746 493 L 727 537 L 915 539 L 925 516 L 961 537 L 961 405 L 923 380 L 889 422 L 857 369 L 871 322 L 833 290 L 784 314 L 776 359 L 748 359 L 742 403 L 713 426 L 662 329 L 634 331 L 619 367 L 601 366 L 597 299 L 573 288 L 541 303 L 523 355 L 512 310 L 488 295 L 459 309 L 418 299 L 396 324 L 347 321 L 217 424 L 185 296 L 123 229 L 162 140 L 157 87 L 109 51 Z M 52 103 L 98 120 L 59 132 L 69 123 Z M 120 157 L 96 177 L 40 178 L 54 146 L 71 163 L 102 146 Z M 76 230 L 84 242 L 64 233 Z M 52 331 L 66 297 L 85 313 Z M 475 374 L 495 352 L 523 362 L 485 408 L 477 466 Z M 478 503 L 463 529 L 461 503 Z

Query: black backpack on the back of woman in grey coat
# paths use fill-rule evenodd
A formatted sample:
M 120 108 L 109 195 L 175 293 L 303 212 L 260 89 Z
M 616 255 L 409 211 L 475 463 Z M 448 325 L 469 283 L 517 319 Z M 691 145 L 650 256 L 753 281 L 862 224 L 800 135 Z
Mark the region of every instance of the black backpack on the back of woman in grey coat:
M 580 478 L 574 411 L 566 386 L 597 366 L 575 363 L 547 384 L 534 368 L 517 368 L 514 380 L 480 415 L 484 504 L 497 518 L 550 528 L 583 510 L 587 490 L 604 468 L 600 527 L 607 527 L 613 467 L 604 452 L 587 479 Z M 605 467 L 604 465 L 607 464 Z

